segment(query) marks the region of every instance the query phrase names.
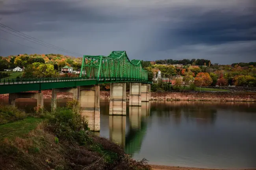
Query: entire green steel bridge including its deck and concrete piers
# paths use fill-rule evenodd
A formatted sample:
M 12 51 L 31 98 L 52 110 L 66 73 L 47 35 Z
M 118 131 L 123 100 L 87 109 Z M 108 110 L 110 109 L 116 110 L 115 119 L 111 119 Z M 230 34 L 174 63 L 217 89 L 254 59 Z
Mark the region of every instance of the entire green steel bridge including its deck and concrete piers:
M 130 60 L 126 51 L 112 51 L 108 56 L 84 55 L 80 77 L 2 79 L 0 94 L 9 93 L 9 104 L 15 106 L 15 99 L 37 99 L 37 106 L 43 107 L 41 90 L 52 89 L 52 110 L 56 109 L 57 93 L 73 93 L 80 101 L 83 114 L 89 116 L 89 127 L 100 130 L 99 84 L 111 83 L 110 115 L 126 115 L 126 83 L 130 82 L 130 106 L 141 106 L 141 101 L 150 100 L 148 73 L 141 66 L 141 60 Z M 28 93 L 26 91 L 38 91 Z M 26 92 L 26 93 L 23 93 Z

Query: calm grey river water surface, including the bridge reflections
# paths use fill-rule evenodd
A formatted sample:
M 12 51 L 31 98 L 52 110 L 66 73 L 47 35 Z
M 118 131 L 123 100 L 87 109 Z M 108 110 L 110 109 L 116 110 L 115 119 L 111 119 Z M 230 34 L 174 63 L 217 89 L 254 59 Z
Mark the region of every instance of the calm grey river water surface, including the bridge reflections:
M 0 102 L 7 103 L 7 100 Z M 59 100 L 65 106 L 66 100 Z M 50 100 L 45 100 L 50 110 Z M 36 101 L 18 99 L 32 111 Z M 135 159 L 150 164 L 198 168 L 256 168 L 256 103 L 143 102 L 126 116 L 109 116 L 100 103 L 100 135 Z

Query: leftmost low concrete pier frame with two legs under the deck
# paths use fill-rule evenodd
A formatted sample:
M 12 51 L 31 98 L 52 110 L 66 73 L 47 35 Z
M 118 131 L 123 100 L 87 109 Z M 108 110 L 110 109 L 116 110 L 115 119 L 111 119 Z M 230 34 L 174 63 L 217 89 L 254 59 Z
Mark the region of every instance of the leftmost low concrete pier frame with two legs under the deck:
M 9 93 L 9 104 L 12 106 L 15 106 L 15 99 L 20 99 L 20 98 L 36 99 L 37 107 L 44 107 L 43 93 L 33 93 L 33 92 Z

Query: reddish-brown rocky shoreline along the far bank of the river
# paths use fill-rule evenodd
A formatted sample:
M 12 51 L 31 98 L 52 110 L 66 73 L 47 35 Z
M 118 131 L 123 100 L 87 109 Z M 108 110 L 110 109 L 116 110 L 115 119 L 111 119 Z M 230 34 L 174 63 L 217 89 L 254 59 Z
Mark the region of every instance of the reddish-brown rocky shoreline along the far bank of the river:
M 52 98 L 52 90 L 42 90 L 42 93 L 44 99 Z M 109 99 L 109 94 L 109 91 L 100 91 L 100 99 Z M 8 98 L 8 96 L 8 94 L 3 94 L 0 98 Z M 72 99 L 72 96 L 72 93 L 61 92 L 57 94 L 57 99 Z M 129 99 L 129 92 L 126 92 L 126 96 Z M 151 100 L 256 102 L 256 92 L 151 92 Z

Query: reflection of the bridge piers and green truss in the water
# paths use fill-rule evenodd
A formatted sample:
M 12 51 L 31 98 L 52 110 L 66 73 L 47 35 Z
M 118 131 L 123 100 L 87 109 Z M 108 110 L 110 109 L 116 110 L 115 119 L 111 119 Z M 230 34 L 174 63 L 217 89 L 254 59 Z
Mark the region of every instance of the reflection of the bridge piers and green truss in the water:
M 140 150 L 147 132 L 150 102 L 142 102 L 141 105 L 127 107 L 129 115 L 126 116 L 109 115 L 109 138 L 122 146 L 126 154 L 133 155 Z

